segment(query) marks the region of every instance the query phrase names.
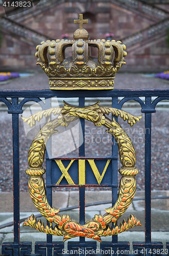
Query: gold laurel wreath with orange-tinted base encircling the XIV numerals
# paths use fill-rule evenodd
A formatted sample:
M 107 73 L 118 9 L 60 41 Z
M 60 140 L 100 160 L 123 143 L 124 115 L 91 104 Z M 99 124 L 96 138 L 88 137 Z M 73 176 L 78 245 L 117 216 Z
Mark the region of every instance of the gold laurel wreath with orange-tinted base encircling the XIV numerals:
M 23 223 L 23 226 L 31 226 L 46 234 L 54 236 L 64 236 L 64 241 L 74 237 L 87 237 L 101 242 L 100 237 L 112 236 L 124 232 L 134 226 L 141 225 L 140 221 L 130 215 L 128 221 L 120 223 L 118 226 L 109 227 L 111 222 L 116 224 L 117 220 L 124 214 L 135 195 L 136 181 L 135 176 L 138 174 L 138 169 L 135 168 L 135 150 L 133 144 L 115 118 L 111 121 L 105 115 L 111 113 L 114 116 L 120 116 L 124 121 L 127 120 L 130 126 L 142 118 L 140 116 L 131 115 L 125 111 L 114 108 L 100 107 L 99 102 L 94 105 L 78 108 L 64 102 L 62 108 L 51 108 L 32 115 L 31 117 L 22 117 L 24 122 L 27 122 L 31 127 L 40 121 L 43 116 L 50 117 L 51 114 L 58 115 L 57 118 L 48 120 L 34 138 L 28 155 L 29 168 L 26 169 L 26 174 L 29 175 L 29 192 L 33 203 L 45 219 L 49 222 L 44 226 L 41 220 L 37 221 L 32 215 Z M 119 194 L 117 202 L 113 207 L 105 209 L 106 213 L 95 215 L 93 220 L 89 220 L 85 225 L 80 225 L 73 221 L 69 215 L 58 214 L 58 208 L 51 208 L 47 202 L 45 183 L 43 174 L 45 169 L 42 167 L 46 142 L 48 138 L 56 133 L 57 127 L 68 126 L 70 122 L 77 118 L 84 118 L 94 123 L 95 126 L 104 125 L 107 127 L 108 133 L 113 135 L 117 141 L 122 168 L 119 173 L 122 175 L 119 186 Z M 52 227 L 52 222 L 55 224 Z

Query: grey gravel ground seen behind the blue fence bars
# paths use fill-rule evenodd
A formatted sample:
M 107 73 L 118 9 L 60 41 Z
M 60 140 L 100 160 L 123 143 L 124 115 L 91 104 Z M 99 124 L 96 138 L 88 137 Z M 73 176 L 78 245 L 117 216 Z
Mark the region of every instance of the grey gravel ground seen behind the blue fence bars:
M 36 77 L 36 79 L 35 79 Z M 36 83 L 35 83 L 36 81 Z M 118 84 L 118 87 L 117 87 Z M 136 86 L 135 86 L 136 84 Z M 119 73 L 115 79 L 115 88 L 168 88 L 168 81 L 146 77 L 141 74 Z M 37 74 L 29 78 L 12 80 L 11 82 L 1 85 L 0 89 L 48 89 L 48 79 L 45 74 Z M 168 109 L 169 111 L 169 109 Z M 152 189 L 168 190 L 169 183 L 169 118 L 168 111 L 159 111 L 152 114 Z M 139 114 L 135 110 L 130 111 L 132 114 Z M 11 115 L 6 112 L 0 112 L 0 191 L 12 191 L 12 124 Z M 144 116 L 133 127 L 119 118 L 119 123 L 126 130 L 133 141 L 137 161 L 136 166 L 139 174 L 136 177 L 137 189 L 144 189 Z M 20 118 L 20 190 L 27 190 L 28 177 L 25 174 L 27 167 L 27 153 L 32 140 L 27 138 L 24 133 L 23 122 Z M 93 124 L 86 122 L 86 129 L 90 130 Z M 89 126 L 89 127 L 88 127 Z M 86 135 L 86 155 L 110 155 L 111 137 L 105 133 L 104 127 L 97 127 L 94 133 L 87 132 Z M 93 142 L 89 138 L 93 136 Z M 105 143 L 99 141 L 105 137 Z M 109 143 L 108 143 L 109 141 Z M 74 151 L 74 154 L 77 150 Z M 119 167 L 120 167 L 119 163 Z M 93 189 L 93 188 L 92 188 Z M 64 189 L 62 189 L 64 190 Z

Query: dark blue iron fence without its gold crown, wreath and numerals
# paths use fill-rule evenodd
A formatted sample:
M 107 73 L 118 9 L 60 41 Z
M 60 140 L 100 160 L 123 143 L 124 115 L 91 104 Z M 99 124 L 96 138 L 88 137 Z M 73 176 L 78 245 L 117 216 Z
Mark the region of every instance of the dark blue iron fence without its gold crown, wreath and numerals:
M 103 90 L 103 91 L 51 91 L 51 90 L 2 90 L 0 92 L 0 101 L 4 102 L 8 107 L 8 114 L 12 114 L 12 129 L 13 129 L 13 212 L 14 212 L 14 241 L 6 242 L 2 245 L 2 253 L 6 255 L 27 255 L 31 254 L 32 246 L 35 246 L 35 254 L 41 255 L 60 255 L 64 249 L 63 242 L 52 242 L 52 236 L 47 234 L 46 241 L 36 242 L 32 245 L 32 242 L 22 242 L 19 240 L 19 114 L 23 112 L 22 108 L 26 102 L 35 101 L 41 102 L 43 99 L 48 99 L 52 97 L 58 98 L 78 98 L 79 106 L 85 105 L 85 98 L 112 98 L 112 107 L 116 109 L 121 109 L 126 101 L 133 100 L 137 101 L 141 108 L 142 113 L 145 113 L 145 130 L 148 129 L 149 133 L 145 133 L 145 241 L 133 241 L 133 249 L 137 249 L 137 253 L 140 253 L 144 249 L 145 254 L 152 254 L 150 249 L 156 249 L 155 254 L 159 254 L 157 249 L 162 249 L 163 244 L 160 241 L 151 241 L 151 117 L 152 113 L 155 113 L 156 105 L 162 100 L 169 100 L 169 90 L 168 89 L 148 89 L 148 90 Z M 142 97 L 142 98 L 140 98 Z M 120 98 L 120 100 L 119 100 Z M 20 99 L 20 100 L 19 100 Z M 45 104 L 42 105 L 42 110 L 48 108 Z M 81 131 L 80 137 L 85 138 L 85 120 L 80 118 Z M 85 156 L 85 142 L 79 144 L 79 156 L 75 159 L 87 160 L 90 157 Z M 66 161 L 69 156 L 62 156 L 59 159 Z M 92 159 L 92 157 L 91 157 Z M 111 156 L 97 156 L 95 160 L 98 161 L 98 165 L 101 164 L 102 160 L 110 160 L 111 168 L 108 170 L 107 174 L 110 175 L 110 183 L 98 184 L 94 180 L 91 180 L 88 184 L 76 184 L 79 187 L 79 219 L 80 225 L 85 224 L 85 187 L 86 186 L 108 186 L 112 190 L 112 205 L 116 203 L 118 195 L 118 147 L 116 143 L 112 143 Z M 48 203 L 52 204 L 52 187 L 54 187 L 54 182 L 52 179 L 52 166 L 53 159 L 47 157 L 46 160 L 46 194 Z M 74 179 L 76 175 L 74 174 Z M 92 178 L 91 178 L 92 179 Z M 57 186 L 67 186 L 66 184 L 58 184 Z M 70 185 L 71 186 L 71 185 Z M 105 200 L 106 201 L 106 200 Z M 77 241 L 77 242 L 76 242 Z M 76 255 L 76 250 L 89 249 L 92 255 L 92 249 L 97 249 L 96 242 L 92 240 L 85 241 L 85 238 L 80 237 L 73 242 L 68 242 L 68 250 L 74 250 L 74 255 Z M 168 239 L 169 241 L 169 239 Z M 46 249 L 47 248 L 47 249 Z M 53 249 L 54 248 L 54 249 Z M 129 242 L 119 242 L 118 236 L 112 236 L 112 241 L 102 242 L 100 244 L 100 249 L 102 254 L 111 254 L 113 249 L 115 254 L 121 254 L 121 250 L 129 250 Z M 169 242 L 166 243 L 166 248 L 169 250 Z M 109 250 L 109 251 L 108 251 Z M 162 254 L 162 253 L 161 253 Z M 130 254 L 131 255 L 131 254 Z

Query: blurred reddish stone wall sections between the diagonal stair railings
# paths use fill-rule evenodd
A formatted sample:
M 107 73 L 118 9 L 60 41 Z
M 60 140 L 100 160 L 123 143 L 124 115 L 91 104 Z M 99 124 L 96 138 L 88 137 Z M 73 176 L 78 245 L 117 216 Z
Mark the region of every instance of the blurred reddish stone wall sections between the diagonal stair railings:
M 161 6 L 162 7 L 162 6 Z M 153 24 L 146 16 L 136 14 L 108 1 L 103 2 L 66 2 L 55 5 L 39 15 L 32 16 L 23 21 L 23 25 L 45 34 L 53 39 L 61 38 L 68 34 L 73 39 L 73 32 L 78 28 L 73 24 L 78 19 L 78 14 L 83 13 L 83 18 L 88 18 L 89 23 L 83 27 L 88 30 L 90 39 L 105 38 L 105 33 L 114 33 L 115 40 L 120 40 Z M 148 71 L 166 70 L 169 58 L 169 49 L 165 39 L 160 38 L 149 45 L 138 46 L 139 50 L 130 52 L 126 57 L 127 65 L 124 70 Z M 3 46 L 0 49 L 1 70 L 6 69 L 36 69 L 36 45 L 29 46 L 19 38 L 4 34 Z M 126 49 L 127 50 L 127 49 Z M 98 49 L 90 49 L 90 54 L 97 57 Z M 71 49 L 66 49 L 66 56 L 71 56 Z

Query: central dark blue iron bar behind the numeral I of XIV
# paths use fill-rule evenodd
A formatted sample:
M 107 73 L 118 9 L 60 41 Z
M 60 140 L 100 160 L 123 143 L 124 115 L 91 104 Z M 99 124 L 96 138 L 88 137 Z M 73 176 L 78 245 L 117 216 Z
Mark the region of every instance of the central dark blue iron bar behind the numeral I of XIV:
M 79 98 L 79 106 L 85 106 L 85 98 Z M 81 126 L 81 127 L 80 127 Z M 79 119 L 79 157 L 85 157 L 85 119 Z M 85 225 L 85 187 L 79 187 L 79 223 Z M 85 238 L 79 237 L 80 243 L 85 243 Z

